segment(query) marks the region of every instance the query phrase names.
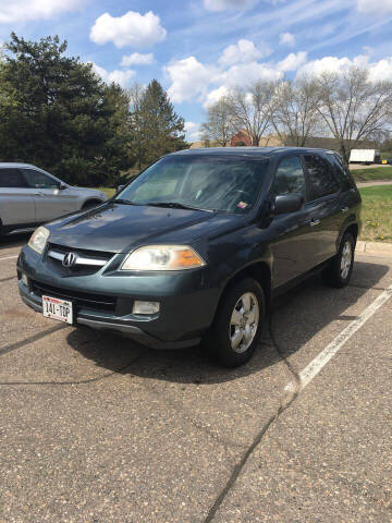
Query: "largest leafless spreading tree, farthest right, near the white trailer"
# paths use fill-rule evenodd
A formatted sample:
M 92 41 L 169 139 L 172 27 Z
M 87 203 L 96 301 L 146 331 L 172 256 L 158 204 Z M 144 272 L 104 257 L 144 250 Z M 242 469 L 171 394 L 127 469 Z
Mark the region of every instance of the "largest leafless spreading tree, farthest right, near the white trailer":
M 316 82 L 318 112 L 348 162 L 351 149 L 388 127 L 392 83 L 371 82 L 368 71 L 355 66 L 344 73 L 323 73 Z

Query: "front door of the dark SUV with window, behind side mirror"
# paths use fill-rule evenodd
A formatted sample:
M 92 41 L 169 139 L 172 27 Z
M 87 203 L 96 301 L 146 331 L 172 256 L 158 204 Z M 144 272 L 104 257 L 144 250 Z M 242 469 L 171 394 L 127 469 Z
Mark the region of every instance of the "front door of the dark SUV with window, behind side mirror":
M 273 193 L 301 194 L 307 200 L 306 178 L 298 156 L 283 158 L 278 165 Z M 274 238 L 271 244 L 274 266 L 274 287 L 280 287 L 317 265 L 314 230 L 306 205 L 296 212 L 273 217 L 269 227 Z

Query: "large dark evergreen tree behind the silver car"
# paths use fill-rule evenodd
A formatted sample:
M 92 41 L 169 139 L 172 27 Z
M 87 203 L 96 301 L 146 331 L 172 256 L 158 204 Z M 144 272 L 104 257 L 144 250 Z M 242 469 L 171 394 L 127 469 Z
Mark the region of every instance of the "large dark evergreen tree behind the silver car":
M 0 160 L 26 161 L 79 184 L 115 184 L 130 167 L 128 97 L 66 41 L 11 35 L 0 63 Z

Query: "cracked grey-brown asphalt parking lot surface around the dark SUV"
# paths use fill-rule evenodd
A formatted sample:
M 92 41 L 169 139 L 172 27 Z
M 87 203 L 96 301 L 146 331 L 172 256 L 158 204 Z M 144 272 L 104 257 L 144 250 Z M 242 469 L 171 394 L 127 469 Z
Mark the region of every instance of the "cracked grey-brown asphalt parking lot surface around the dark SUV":
M 392 521 L 392 257 L 280 297 L 228 370 L 47 320 L 0 244 L 0 522 Z

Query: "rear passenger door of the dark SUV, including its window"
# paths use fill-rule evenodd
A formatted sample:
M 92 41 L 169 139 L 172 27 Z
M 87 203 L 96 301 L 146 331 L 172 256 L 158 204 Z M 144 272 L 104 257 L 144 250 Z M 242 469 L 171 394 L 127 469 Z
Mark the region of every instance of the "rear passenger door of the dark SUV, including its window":
M 321 264 L 336 254 L 336 243 L 342 226 L 340 184 L 333 168 L 320 154 L 304 155 L 309 202 L 306 210 L 314 230 L 316 262 Z

